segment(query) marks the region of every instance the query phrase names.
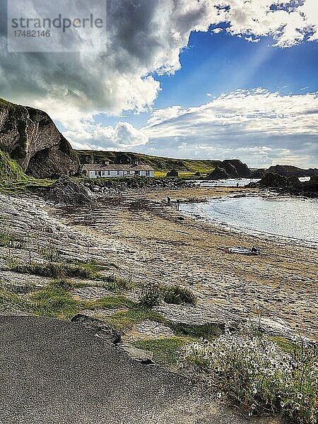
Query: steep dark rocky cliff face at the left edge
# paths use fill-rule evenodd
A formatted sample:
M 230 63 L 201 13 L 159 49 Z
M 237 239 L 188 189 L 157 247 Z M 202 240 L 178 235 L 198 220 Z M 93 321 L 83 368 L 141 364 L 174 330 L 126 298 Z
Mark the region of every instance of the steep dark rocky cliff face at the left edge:
M 0 99 L 1 147 L 35 178 L 78 171 L 76 153 L 48 114 Z

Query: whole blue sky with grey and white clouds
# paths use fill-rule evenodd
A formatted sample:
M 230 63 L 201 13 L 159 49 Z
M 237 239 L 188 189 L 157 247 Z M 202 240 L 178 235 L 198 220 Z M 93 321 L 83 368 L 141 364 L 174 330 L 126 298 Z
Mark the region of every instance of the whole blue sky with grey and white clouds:
M 109 0 L 105 52 L 5 38 L 0 97 L 45 110 L 74 148 L 318 167 L 317 0 Z

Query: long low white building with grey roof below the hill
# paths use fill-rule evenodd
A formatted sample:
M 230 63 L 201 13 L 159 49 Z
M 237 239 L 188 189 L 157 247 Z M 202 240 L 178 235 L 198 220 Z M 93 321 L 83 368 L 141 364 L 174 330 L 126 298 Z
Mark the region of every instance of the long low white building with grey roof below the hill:
M 88 178 L 107 178 L 107 177 L 154 177 L 155 170 L 149 165 L 117 165 L 102 163 L 86 163 L 82 167 Z

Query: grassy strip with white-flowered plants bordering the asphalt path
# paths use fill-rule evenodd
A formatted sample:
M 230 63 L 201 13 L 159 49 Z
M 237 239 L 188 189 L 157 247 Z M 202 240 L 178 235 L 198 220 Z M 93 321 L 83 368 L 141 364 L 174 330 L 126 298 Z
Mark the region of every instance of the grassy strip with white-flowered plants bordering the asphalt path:
M 51 252 L 52 250 L 52 252 Z M 130 299 L 134 285 L 114 278 L 113 264 L 98 261 L 65 261 L 54 249 L 43 251 L 47 261 L 20 263 L 8 257 L 6 269 L 21 276 L 42 276 L 45 285 L 16 285 L 0 282 L 2 311 L 71 319 L 88 311 L 103 314 L 102 321 L 122 334 L 125 343 L 151 351 L 156 363 L 172 370 L 190 366 L 204 375 L 207 389 L 217 392 L 247 415 L 280 415 L 288 422 L 315 423 L 317 417 L 318 352 L 315 346 L 294 343 L 283 337 L 269 338 L 252 327 L 224 329 L 215 324 L 177 324 L 153 307 L 162 302 L 194 305 L 191 290 L 179 285 L 146 284 L 140 301 Z M 112 289 L 117 294 L 83 300 L 73 294 L 78 288 Z M 173 336 L 129 338 L 129 332 L 143 322 L 157 322 Z M 193 368 L 194 367 L 194 368 Z

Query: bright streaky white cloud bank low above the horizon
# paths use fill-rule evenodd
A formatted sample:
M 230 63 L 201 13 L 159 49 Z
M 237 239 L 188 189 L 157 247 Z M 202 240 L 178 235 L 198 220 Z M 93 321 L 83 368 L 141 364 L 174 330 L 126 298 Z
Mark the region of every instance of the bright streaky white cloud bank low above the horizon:
M 142 129 L 83 124 L 74 146 L 102 146 L 179 158 L 240 158 L 250 166 L 317 166 L 318 93 L 237 90 L 199 107 L 155 110 Z M 130 149 L 131 150 L 131 149 Z

